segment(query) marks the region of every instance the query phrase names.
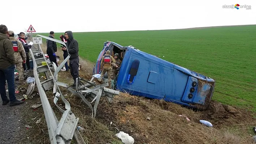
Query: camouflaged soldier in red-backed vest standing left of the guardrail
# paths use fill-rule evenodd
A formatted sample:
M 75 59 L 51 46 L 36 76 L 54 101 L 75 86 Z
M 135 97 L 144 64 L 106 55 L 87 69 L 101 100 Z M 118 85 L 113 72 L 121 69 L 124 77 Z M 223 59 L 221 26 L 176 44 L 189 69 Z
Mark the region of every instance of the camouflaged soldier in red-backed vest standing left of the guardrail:
M 24 81 L 22 64 L 26 63 L 26 52 L 20 40 L 14 39 L 14 32 L 8 31 L 8 33 L 9 39 L 12 41 L 13 44 L 15 65 L 19 73 L 19 83 L 22 83 Z

